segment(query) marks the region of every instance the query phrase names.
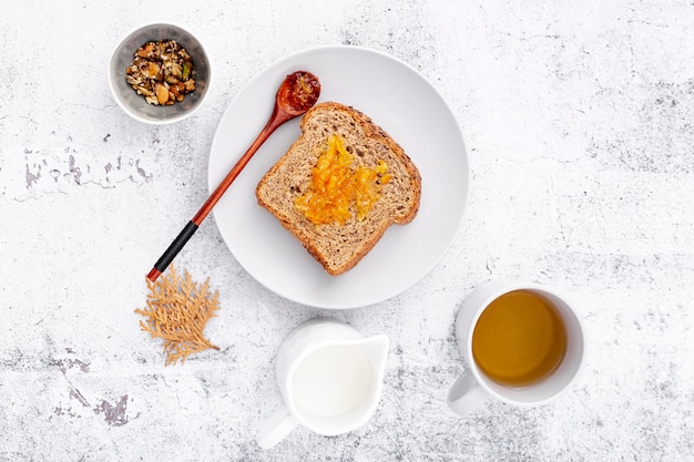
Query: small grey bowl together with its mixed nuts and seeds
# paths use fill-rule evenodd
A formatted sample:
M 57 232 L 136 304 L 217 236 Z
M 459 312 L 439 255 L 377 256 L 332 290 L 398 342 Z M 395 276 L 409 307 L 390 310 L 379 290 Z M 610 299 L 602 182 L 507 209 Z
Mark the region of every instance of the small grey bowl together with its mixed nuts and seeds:
M 165 124 L 192 115 L 210 89 L 212 69 L 200 40 L 165 23 L 142 25 L 113 50 L 109 86 L 133 119 Z

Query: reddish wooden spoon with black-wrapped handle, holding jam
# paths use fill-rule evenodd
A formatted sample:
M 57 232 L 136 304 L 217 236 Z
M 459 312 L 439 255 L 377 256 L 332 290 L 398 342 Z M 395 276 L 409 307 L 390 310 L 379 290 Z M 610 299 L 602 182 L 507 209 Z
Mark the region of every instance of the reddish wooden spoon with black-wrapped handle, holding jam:
M 285 78 L 282 85 L 279 85 L 279 89 L 277 90 L 273 114 L 258 137 L 255 138 L 253 144 L 251 144 L 251 147 L 248 147 L 248 151 L 241 156 L 229 173 L 226 174 L 226 177 L 207 198 L 207 202 L 203 204 L 193 219 L 185 225 L 174 242 L 171 243 L 166 251 L 164 251 L 161 258 L 154 264 L 154 268 L 152 268 L 147 275 L 147 279 L 154 283 L 156 278 L 164 273 L 164 270 L 169 267 L 169 264 L 171 264 L 183 246 L 185 246 L 193 234 L 195 234 L 215 204 L 220 201 L 220 198 L 222 198 L 226 189 L 228 189 L 234 179 L 236 179 L 236 176 L 238 176 L 251 157 L 253 157 L 269 135 L 272 135 L 279 125 L 308 111 L 314 104 L 316 104 L 318 96 L 320 96 L 320 82 L 318 81 L 318 78 L 310 72 L 297 71 Z

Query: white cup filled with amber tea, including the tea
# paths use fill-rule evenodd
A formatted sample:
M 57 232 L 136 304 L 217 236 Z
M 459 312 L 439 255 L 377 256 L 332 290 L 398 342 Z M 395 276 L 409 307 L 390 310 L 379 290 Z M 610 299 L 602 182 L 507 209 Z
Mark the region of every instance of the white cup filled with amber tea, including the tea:
M 567 297 L 535 284 L 481 285 L 458 311 L 456 337 L 468 369 L 448 404 L 461 415 L 490 397 L 525 407 L 549 402 L 574 381 L 585 349 Z

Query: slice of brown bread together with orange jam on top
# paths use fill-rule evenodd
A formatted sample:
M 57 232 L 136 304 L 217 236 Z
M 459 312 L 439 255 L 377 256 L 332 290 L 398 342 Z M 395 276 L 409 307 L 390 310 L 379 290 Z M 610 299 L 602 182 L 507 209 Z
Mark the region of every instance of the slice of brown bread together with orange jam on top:
M 256 187 L 271 212 L 333 276 L 355 267 L 392 225 L 419 209 L 419 171 L 366 114 L 310 109 L 302 134 Z

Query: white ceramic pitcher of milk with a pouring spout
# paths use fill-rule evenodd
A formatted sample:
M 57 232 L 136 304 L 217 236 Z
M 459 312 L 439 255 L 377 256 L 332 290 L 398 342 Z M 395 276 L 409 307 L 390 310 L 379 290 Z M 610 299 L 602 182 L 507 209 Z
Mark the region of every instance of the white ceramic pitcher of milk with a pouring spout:
M 297 425 L 323 435 L 346 433 L 374 414 L 382 391 L 388 337 L 365 338 L 333 319 L 312 319 L 282 342 L 275 373 L 284 404 L 256 441 L 268 449 Z

